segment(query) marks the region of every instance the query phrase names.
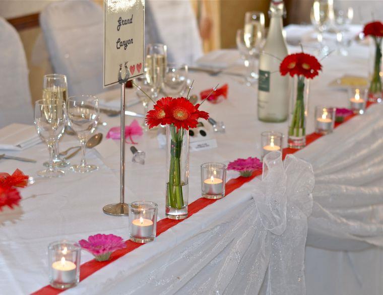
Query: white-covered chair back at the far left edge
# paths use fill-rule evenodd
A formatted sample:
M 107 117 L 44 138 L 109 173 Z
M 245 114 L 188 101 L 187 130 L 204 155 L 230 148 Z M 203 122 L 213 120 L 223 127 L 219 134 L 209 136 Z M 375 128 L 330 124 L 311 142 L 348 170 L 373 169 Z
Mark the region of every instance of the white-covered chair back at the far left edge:
M 19 34 L 0 18 L 0 128 L 33 122 L 28 66 Z

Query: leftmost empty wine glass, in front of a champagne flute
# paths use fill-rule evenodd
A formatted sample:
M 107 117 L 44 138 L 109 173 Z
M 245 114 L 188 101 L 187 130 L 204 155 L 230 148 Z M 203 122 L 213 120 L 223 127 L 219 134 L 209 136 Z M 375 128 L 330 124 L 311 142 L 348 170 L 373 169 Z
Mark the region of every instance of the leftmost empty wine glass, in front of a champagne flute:
M 66 105 L 61 100 L 38 100 L 35 103 L 34 123 L 38 135 L 48 145 L 49 165 L 46 170 L 37 172 L 41 177 L 59 177 L 62 170 L 53 165 L 53 149 L 59 136 L 64 132 L 67 120 Z

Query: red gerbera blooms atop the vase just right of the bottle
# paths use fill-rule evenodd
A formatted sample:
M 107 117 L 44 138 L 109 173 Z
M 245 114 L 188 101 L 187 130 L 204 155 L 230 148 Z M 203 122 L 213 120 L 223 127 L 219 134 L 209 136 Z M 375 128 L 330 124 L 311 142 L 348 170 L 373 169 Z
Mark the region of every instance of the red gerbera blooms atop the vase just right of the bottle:
M 298 75 L 307 79 L 317 76 L 321 69 L 322 65 L 315 56 L 303 52 L 287 55 L 279 66 L 282 76 L 289 73 L 291 77 Z

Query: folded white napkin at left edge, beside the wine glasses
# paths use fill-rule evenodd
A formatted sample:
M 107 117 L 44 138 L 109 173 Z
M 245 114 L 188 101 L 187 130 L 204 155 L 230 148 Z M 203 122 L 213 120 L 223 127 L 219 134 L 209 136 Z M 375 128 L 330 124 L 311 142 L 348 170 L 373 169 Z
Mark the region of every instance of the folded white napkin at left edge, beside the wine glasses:
M 33 125 L 14 123 L 0 129 L 0 150 L 22 151 L 39 142 Z

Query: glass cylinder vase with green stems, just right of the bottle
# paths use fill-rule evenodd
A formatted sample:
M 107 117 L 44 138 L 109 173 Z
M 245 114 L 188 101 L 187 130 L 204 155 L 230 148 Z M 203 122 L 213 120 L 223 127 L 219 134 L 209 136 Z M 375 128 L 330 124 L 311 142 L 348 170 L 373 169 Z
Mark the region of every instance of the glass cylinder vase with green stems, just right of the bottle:
M 302 149 L 306 145 L 309 80 L 304 76 L 295 76 L 292 79 L 287 144 L 292 149 Z

